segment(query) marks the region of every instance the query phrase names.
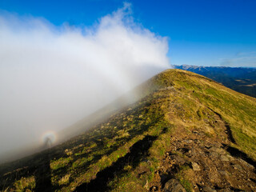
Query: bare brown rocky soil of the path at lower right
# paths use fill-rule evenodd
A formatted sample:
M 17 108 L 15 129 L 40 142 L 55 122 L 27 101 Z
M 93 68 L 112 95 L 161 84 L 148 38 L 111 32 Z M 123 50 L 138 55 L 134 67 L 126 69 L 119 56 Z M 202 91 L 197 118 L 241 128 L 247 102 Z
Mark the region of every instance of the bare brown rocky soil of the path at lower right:
M 214 114 L 222 129 L 218 137 L 208 137 L 203 130 L 182 134 L 186 133 L 182 126 L 171 136 L 170 150 L 162 159 L 150 191 L 170 191 L 165 185 L 171 178 L 190 182 L 187 191 L 256 191 L 256 163 L 230 146 L 235 143 L 230 126 L 220 114 Z

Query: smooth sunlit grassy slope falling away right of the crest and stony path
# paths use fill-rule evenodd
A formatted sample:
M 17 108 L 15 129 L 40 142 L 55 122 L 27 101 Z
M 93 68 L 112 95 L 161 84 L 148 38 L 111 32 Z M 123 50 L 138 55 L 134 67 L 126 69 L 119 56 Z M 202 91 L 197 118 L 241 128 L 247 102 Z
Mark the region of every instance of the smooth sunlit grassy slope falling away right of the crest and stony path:
M 210 79 L 201 78 L 202 76 L 197 74 L 185 71 L 179 71 L 179 75 L 176 75 L 175 71 L 170 71 L 169 74 L 174 76 L 176 87 L 185 87 L 186 93 L 192 91 L 190 97 L 198 99 L 198 102 L 204 106 L 209 106 L 221 114 L 222 118 L 230 124 L 235 142 L 237 142 L 235 146 L 256 159 L 255 98 L 238 94 L 218 83 L 212 83 Z

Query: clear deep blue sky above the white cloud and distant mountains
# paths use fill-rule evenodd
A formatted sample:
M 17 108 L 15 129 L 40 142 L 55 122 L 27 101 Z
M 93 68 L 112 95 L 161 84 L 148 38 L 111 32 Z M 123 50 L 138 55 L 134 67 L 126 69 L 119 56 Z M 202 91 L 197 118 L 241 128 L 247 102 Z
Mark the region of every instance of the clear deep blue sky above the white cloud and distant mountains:
M 132 5 L 134 22 L 168 38 L 171 64 L 256 66 L 256 1 L 147 0 Z M 55 26 L 93 26 L 122 7 L 118 0 L 1 0 L 0 14 L 45 18 Z

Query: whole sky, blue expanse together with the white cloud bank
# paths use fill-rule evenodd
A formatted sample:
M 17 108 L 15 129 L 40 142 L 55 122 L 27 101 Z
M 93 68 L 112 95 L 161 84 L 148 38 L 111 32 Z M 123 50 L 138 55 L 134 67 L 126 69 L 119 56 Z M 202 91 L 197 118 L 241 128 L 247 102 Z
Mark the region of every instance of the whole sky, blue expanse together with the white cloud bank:
M 255 6 L 1 0 L 0 154 L 42 142 L 172 65 L 255 66 Z

